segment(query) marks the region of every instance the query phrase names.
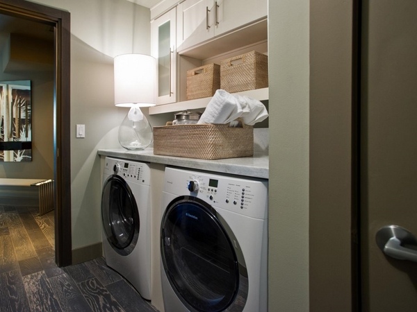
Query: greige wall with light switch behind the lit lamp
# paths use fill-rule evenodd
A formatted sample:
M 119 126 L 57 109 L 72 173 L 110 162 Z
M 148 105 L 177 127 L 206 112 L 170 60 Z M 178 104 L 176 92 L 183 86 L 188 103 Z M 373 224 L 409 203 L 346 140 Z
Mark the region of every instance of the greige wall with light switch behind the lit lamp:
M 118 148 L 113 58 L 150 52 L 149 9 L 125 0 L 38 0 L 71 14 L 72 249 L 101 242 L 98 148 Z M 85 138 L 76 139 L 76 124 Z

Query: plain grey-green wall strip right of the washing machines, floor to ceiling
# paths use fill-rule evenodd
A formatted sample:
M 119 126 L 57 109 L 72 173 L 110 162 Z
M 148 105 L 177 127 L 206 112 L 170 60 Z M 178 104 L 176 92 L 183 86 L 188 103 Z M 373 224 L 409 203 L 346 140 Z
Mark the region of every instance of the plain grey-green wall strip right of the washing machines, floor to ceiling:
M 269 1 L 269 311 L 309 311 L 309 1 Z

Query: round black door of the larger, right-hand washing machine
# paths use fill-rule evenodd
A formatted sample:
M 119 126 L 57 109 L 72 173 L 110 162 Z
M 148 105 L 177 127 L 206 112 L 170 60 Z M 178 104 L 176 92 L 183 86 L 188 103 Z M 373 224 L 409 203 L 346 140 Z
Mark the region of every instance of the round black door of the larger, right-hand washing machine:
M 231 243 L 238 244 L 237 240 L 231 239 L 224 223 L 215 209 L 193 196 L 176 198 L 163 215 L 163 268 L 190 311 L 224 311 L 231 307 L 242 311 L 245 306 L 247 272 Z

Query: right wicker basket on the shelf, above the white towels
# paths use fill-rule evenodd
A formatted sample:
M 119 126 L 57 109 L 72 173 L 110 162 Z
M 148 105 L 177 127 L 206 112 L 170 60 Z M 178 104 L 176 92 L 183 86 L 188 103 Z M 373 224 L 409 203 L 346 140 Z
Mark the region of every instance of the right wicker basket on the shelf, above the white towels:
M 268 55 L 251 51 L 220 63 L 220 88 L 229 93 L 268 87 Z

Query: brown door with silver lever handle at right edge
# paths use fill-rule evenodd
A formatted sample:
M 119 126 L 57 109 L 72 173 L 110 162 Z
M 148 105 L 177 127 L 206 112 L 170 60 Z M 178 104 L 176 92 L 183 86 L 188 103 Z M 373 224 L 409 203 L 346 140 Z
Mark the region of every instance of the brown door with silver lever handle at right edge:
M 391 257 L 375 237 L 417 235 L 417 1 L 363 1 L 362 29 L 362 311 L 415 312 L 417 262 L 395 258 L 416 260 L 417 246 L 387 229 Z

